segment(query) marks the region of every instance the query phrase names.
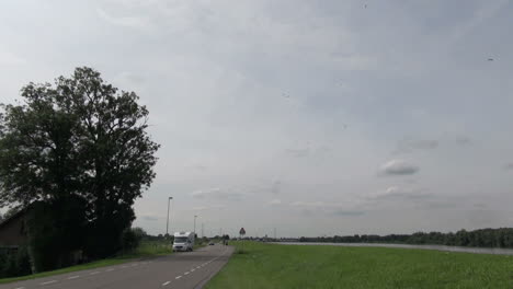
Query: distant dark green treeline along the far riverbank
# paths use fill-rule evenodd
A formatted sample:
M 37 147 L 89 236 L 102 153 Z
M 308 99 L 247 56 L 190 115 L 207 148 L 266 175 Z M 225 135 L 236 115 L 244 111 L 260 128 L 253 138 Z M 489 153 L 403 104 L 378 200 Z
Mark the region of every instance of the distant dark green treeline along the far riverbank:
M 389 235 L 334 235 L 334 236 L 301 236 L 299 242 L 332 242 L 332 243 L 403 243 L 432 244 L 448 246 L 474 247 L 511 247 L 513 248 L 513 228 L 479 229 L 475 231 L 459 230 L 456 233 L 417 232 L 413 234 Z

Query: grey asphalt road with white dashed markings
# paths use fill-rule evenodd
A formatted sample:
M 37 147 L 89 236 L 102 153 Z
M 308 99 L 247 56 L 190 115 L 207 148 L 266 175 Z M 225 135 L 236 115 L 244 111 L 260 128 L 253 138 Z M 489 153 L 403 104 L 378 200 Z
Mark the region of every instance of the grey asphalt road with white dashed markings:
M 0 285 L 0 289 L 202 288 L 232 252 L 231 246 L 216 244 L 194 252 Z

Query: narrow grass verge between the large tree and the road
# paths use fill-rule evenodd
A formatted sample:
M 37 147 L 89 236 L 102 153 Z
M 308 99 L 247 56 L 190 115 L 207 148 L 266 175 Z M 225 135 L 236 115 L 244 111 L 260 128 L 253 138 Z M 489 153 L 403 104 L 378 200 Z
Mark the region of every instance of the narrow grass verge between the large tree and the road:
M 100 259 L 100 261 L 95 261 L 95 262 L 91 262 L 87 264 L 80 264 L 80 265 L 66 267 L 66 268 L 52 270 L 52 271 L 43 271 L 43 273 L 37 273 L 37 274 L 21 276 L 21 277 L 13 277 L 13 278 L 3 278 L 3 279 L 0 279 L 0 284 L 15 282 L 15 281 L 48 277 L 48 276 L 58 275 L 58 274 L 66 274 L 66 273 L 71 273 L 71 271 L 112 266 L 112 265 L 127 263 L 136 258 L 168 255 L 168 254 L 171 254 L 172 251 L 173 251 L 172 245 L 169 242 L 142 241 L 140 245 L 133 252 L 119 254 L 112 258 Z

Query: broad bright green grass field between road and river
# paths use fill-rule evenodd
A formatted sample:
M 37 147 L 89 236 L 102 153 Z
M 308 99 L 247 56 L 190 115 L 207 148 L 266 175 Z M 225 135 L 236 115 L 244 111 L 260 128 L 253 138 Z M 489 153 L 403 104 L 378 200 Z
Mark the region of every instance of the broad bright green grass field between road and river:
M 243 248 L 207 289 L 513 288 L 513 256 L 254 242 L 244 242 Z

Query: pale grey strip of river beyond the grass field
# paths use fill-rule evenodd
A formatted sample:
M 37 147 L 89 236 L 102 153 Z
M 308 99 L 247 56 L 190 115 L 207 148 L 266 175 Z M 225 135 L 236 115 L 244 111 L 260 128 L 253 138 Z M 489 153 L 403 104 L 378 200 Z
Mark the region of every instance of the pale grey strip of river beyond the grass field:
M 475 254 L 493 255 L 513 255 L 512 248 L 500 247 L 463 247 L 463 246 L 443 246 L 443 245 L 408 245 L 408 244 L 381 244 L 381 243 L 318 243 L 318 242 L 276 242 L 282 245 L 330 245 L 330 246 L 369 246 L 369 247 L 401 247 L 401 248 L 422 248 L 447 252 L 461 252 Z

